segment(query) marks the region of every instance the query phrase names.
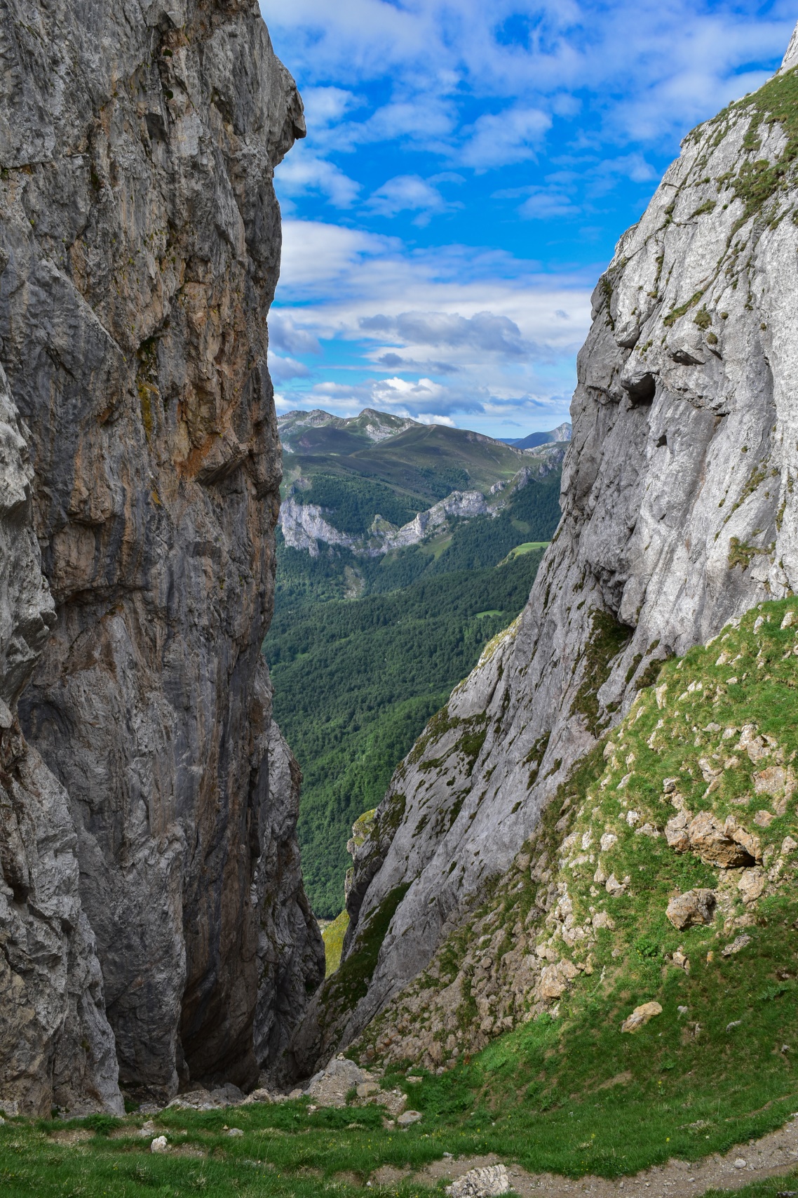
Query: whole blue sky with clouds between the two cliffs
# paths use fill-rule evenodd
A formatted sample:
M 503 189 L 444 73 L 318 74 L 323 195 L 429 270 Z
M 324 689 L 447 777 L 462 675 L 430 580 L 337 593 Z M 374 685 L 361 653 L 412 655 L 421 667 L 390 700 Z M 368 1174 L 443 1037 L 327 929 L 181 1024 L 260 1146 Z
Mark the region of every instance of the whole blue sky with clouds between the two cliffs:
M 276 171 L 278 410 L 524 436 L 566 419 L 590 294 L 681 138 L 798 5 L 261 0 L 305 102 Z

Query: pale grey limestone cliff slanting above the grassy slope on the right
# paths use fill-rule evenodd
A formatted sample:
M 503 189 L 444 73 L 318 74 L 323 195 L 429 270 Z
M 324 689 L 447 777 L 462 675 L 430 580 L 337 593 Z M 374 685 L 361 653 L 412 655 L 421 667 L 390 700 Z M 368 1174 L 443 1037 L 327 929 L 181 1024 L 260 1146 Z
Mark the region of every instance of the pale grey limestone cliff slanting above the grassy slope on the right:
M 349 957 L 395 914 L 357 1006 L 319 992 L 299 1071 L 430 962 L 663 658 L 798 589 L 793 67 L 686 138 L 596 288 L 560 527 L 358 849 Z

